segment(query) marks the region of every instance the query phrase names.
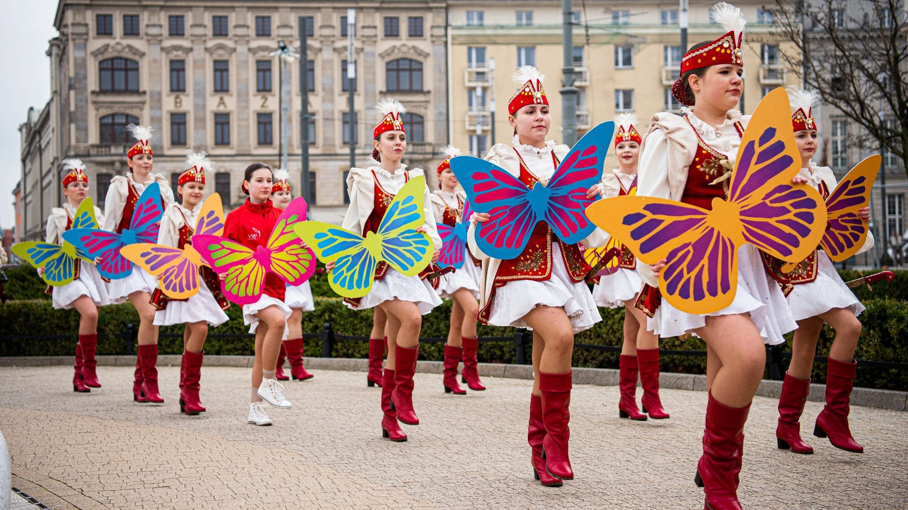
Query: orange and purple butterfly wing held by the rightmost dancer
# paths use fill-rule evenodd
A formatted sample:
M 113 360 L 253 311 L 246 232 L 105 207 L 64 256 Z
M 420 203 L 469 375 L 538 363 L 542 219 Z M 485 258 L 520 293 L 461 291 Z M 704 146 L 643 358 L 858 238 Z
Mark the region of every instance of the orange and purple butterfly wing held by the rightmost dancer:
M 881 157 L 874 154 L 857 163 L 826 199 L 828 221 L 820 246 L 829 258 L 840 262 L 853 256 L 867 239 L 867 222 L 857 212 L 867 206 Z

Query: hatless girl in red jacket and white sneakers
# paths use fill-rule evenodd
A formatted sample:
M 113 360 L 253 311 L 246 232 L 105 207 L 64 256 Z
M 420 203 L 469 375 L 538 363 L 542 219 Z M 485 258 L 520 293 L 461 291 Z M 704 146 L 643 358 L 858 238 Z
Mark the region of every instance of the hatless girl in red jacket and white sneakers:
M 255 249 L 268 243 L 271 230 L 282 209 L 271 204 L 271 168 L 252 163 L 246 168 L 242 191 L 249 198 L 231 211 L 224 221 L 223 237 Z M 226 278 L 222 273 L 221 278 Z M 283 386 L 275 378 L 281 338 L 286 334 L 291 309 L 284 304 L 284 282 L 276 274 L 265 275 L 265 289 L 258 301 L 242 306 L 242 319 L 255 333 L 255 362 L 252 365 L 252 400 L 249 423 L 271 425 L 262 400 L 286 409 L 291 403 L 283 396 Z

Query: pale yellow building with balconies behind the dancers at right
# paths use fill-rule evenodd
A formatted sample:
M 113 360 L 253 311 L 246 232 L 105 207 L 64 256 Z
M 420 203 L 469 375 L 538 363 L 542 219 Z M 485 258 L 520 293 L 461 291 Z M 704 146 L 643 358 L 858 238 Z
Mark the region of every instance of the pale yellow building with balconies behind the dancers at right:
M 455 145 L 471 154 L 494 142 L 510 142 L 508 99 L 517 85 L 510 76 L 520 65 L 547 75 L 550 135 L 560 141 L 562 53 L 561 3 L 500 0 L 489 4 L 449 0 L 450 132 Z M 583 6 L 586 5 L 586 9 Z M 713 40 L 724 32 L 709 21 L 712 3 L 690 3 L 687 44 Z M 800 81 L 786 73 L 779 52 L 786 50 L 771 28 L 765 2 L 735 2 L 747 18 L 745 91 L 739 107 L 752 113 L 765 93 Z M 577 135 L 617 113 L 639 117 L 646 131 L 656 112 L 680 113 L 671 95 L 684 50 L 680 44 L 678 2 L 574 2 L 573 64 L 577 76 Z M 494 59 L 494 71 L 491 64 Z M 494 98 L 495 139 L 490 105 Z M 607 165 L 617 164 L 609 154 Z

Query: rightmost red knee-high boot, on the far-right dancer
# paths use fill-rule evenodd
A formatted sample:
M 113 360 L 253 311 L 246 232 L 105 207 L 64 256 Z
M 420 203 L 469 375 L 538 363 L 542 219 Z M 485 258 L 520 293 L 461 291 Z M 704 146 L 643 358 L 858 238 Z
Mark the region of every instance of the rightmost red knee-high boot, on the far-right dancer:
M 829 437 L 829 442 L 836 448 L 856 454 L 864 453 L 861 446 L 851 435 L 848 427 L 848 413 L 851 411 L 851 390 L 854 378 L 857 377 L 857 361 L 844 363 L 829 358 L 826 368 L 826 406 L 816 417 L 814 436 Z

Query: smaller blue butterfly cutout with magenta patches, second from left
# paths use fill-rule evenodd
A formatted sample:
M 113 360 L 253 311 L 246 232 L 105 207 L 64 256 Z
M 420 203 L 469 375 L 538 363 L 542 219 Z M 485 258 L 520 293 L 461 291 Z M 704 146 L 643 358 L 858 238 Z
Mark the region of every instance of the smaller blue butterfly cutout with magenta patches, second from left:
M 72 242 L 76 250 L 84 251 L 92 260 L 100 257 L 97 268 L 101 276 L 108 280 L 120 280 L 133 272 L 133 262 L 123 257 L 120 249 L 130 244 L 158 240 L 158 226 L 163 213 L 161 188 L 157 182 L 152 182 L 135 203 L 129 229 L 118 234 L 97 228 L 72 228 L 63 233 L 63 239 Z

